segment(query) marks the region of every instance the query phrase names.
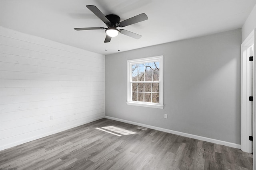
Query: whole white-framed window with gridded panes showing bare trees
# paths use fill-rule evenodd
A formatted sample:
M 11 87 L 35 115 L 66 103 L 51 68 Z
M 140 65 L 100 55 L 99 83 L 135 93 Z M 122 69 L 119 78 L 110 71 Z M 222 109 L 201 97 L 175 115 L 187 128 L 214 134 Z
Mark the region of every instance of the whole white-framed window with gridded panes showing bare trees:
M 163 56 L 128 60 L 127 104 L 163 109 Z

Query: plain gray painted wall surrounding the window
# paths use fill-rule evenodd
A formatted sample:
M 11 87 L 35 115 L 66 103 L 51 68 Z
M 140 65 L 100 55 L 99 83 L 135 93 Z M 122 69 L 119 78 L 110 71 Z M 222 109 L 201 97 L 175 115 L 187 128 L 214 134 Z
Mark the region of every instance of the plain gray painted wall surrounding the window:
M 241 41 L 236 29 L 106 55 L 105 115 L 240 144 Z M 158 55 L 164 109 L 127 105 L 127 60 Z

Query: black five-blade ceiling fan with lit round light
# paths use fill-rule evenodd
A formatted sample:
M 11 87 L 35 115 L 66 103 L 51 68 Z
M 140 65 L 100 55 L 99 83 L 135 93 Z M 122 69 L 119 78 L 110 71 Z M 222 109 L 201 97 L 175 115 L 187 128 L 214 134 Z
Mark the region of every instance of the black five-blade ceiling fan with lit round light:
M 109 43 L 112 37 L 116 37 L 119 33 L 127 35 L 129 37 L 139 39 L 142 37 L 141 35 L 138 35 L 136 33 L 127 31 L 125 29 L 116 29 L 117 27 L 125 27 L 128 25 L 132 25 L 134 23 L 138 23 L 141 21 L 148 20 L 148 16 L 144 13 L 139 14 L 137 16 L 134 16 L 132 18 L 129 18 L 127 20 L 124 20 L 120 22 L 120 17 L 114 14 L 106 15 L 102 14 L 100 10 L 94 6 L 94 5 L 87 5 L 86 6 L 89 10 L 91 10 L 100 20 L 102 20 L 106 25 L 107 28 L 104 27 L 88 27 L 88 28 L 74 28 L 76 31 L 81 31 L 81 30 L 92 30 L 92 29 L 106 29 L 106 38 L 104 40 L 104 43 Z

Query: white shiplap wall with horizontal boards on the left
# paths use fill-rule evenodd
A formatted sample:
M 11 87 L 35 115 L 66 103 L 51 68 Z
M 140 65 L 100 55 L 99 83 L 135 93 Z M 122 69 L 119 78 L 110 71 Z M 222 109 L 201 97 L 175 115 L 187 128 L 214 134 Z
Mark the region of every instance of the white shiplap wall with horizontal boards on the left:
M 104 62 L 0 27 L 0 150 L 103 118 Z

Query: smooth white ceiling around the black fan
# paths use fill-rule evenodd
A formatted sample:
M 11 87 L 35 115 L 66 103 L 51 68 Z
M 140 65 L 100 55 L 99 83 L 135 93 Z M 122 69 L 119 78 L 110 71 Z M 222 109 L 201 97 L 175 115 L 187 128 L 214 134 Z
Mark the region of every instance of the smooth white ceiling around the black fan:
M 100 54 L 112 54 L 241 28 L 256 0 L 0 0 L 0 26 Z M 107 43 L 106 27 L 86 5 L 121 21 L 145 13 L 148 20 L 122 27 L 142 35 L 119 34 Z

